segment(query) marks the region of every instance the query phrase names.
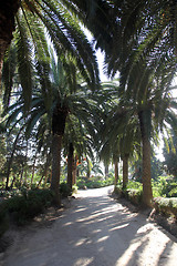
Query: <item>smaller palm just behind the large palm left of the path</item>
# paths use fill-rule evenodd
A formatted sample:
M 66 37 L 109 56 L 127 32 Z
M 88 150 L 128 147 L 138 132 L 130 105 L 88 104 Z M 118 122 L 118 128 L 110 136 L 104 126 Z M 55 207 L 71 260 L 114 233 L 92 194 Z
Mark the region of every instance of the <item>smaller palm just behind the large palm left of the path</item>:
M 85 94 L 87 102 L 91 100 L 88 99 L 91 96 Z M 76 161 L 81 161 L 83 156 L 94 157 L 96 119 L 93 120 L 92 117 L 94 117 L 96 110 L 97 106 L 94 100 L 91 109 L 87 109 L 87 113 L 79 111 L 77 115 L 70 114 L 66 120 L 63 147 L 64 155 L 67 155 L 67 184 L 70 187 L 75 183 Z

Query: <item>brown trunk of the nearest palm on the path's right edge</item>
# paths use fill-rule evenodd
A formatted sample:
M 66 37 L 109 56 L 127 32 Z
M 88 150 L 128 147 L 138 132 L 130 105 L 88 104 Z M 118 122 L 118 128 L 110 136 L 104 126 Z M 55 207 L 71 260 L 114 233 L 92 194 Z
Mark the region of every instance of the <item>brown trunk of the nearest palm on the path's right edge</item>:
M 145 207 L 152 207 L 153 191 L 152 191 L 152 167 L 150 167 L 150 137 L 149 127 L 147 122 L 150 120 L 150 112 L 142 111 L 139 113 L 140 132 L 142 132 L 142 145 L 143 145 L 143 204 Z

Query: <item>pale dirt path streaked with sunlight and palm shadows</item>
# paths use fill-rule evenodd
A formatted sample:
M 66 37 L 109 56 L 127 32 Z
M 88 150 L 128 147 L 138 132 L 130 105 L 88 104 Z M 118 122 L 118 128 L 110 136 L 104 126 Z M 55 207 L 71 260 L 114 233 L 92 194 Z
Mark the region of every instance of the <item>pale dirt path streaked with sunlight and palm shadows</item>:
M 175 237 L 107 196 L 80 192 L 49 227 L 24 232 L 3 266 L 176 266 Z

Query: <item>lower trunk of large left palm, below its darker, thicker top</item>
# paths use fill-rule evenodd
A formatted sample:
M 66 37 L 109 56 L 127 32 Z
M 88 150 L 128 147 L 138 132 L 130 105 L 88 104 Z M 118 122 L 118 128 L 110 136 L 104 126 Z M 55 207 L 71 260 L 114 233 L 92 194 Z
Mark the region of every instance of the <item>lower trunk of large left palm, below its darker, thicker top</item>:
M 51 190 L 54 193 L 54 204 L 58 206 L 61 205 L 60 195 L 61 150 L 62 150 L 62 135 L 53 134 Z

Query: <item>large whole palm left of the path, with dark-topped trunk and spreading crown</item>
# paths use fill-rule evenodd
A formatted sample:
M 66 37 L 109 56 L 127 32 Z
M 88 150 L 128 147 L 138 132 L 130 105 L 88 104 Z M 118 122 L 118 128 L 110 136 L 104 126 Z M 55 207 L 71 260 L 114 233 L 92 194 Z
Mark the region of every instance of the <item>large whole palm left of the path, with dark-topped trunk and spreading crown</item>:
M 15 123 L 18 123 L 23 119 L 23 115 L 25 115 L 25 124 L 28 124 L 27 134 L 38 125 L 37 123 L 42 121 L 42 117 L 48 117 L 46 126 L 49 133 L 51 132 L 52 134 L 53 157 L 51 190 L 55 194 L 55 203 L 58 205 L 60 205 L 59 184 L 62 141 L 67 120 L 72 120 L 72 115 L 76 116 L 80 127 L 82 129 L 83 117 L 85 117 L 84 126 L 90 129 L 90 134 L 94 135 L 95 129 L 93 127 L 93 121 L 96 121 L 96 112 L 93 114 L 92 110 L 93 106 L 95 106 L 95 110 L 97 109 L 95 100 L 88 98 L 91 91 L 86 92 L 85 88 L 80 84 L 77 84 L 76 88 L 76 76 L 74 78 L 74 73 L 77 75 L 79 73 L 69 66 L 71 66 L 70 61 L 67 64 L 66 61 L 62 63 L 60 60 L 56 60 L 54 55 L 51 55 L 51 71 L 49 76 L 39 76 L 40 80 L 37 80 L 37 89 L 33 91 L 29 113 L 23 112 L 24 101 L 22 98 L 19 98 L 19 100 L 8 109 L 9 113 L 13 110 L 8 119 L 8 124 L 13 119 L 15 119 Z M 50 90 L 44 91 L 46 85 L 44 81 L 48 81 L 46 84 Z M 88 114 L 92 114 L 90 119 L 87 116 Z

